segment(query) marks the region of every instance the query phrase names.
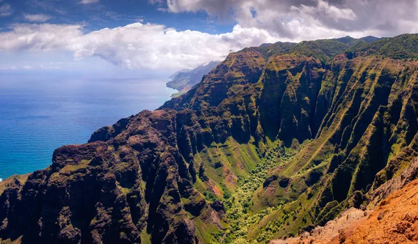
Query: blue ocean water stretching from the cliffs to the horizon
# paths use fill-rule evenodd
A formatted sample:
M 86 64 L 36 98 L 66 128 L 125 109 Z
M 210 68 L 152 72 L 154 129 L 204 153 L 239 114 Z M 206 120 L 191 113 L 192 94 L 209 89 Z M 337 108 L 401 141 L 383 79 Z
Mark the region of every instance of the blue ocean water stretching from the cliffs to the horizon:
M 0 178 L 44 169 L 55 148 L 86 143 L 98 128 L 176 92 L 164 79 L 0 76 Z

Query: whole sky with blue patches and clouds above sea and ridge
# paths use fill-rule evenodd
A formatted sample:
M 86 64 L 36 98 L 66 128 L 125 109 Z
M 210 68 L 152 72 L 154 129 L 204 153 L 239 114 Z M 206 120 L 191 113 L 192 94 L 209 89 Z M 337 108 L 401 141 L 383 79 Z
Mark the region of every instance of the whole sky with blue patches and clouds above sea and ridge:
M 417 23 L 418 0 L 0 0 L 0 73 L 172 73 L 263 43 Z

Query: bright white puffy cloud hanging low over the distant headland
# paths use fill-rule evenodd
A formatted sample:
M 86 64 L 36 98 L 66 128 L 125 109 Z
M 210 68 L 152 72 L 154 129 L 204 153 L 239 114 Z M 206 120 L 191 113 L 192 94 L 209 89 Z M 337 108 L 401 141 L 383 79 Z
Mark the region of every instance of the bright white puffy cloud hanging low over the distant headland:
M 135 23 L 88 33 L 70 49 L 76 57 L 100 56 L 125 68 L 192 68 L 220 60 L 231 51 L 274 40 L 267 31 L 240 26 L 231 33 L 210 35 Z

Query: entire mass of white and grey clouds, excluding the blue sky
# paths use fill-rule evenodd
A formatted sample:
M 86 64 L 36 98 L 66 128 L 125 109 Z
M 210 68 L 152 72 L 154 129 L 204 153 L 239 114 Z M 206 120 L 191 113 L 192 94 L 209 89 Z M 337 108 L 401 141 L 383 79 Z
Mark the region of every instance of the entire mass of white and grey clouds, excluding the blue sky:
M 79 24 L 14 24 L 0 33 L 0 51 L 66 50 L 75 59 L 98 56 L 128 69 L 174 70 L 219 61 L 262 43 L 418 32 L 417 0 L 149 1 L 173 13 L 233 17 L 237 24 L 216 35 L 150 23 L 90 33 Z

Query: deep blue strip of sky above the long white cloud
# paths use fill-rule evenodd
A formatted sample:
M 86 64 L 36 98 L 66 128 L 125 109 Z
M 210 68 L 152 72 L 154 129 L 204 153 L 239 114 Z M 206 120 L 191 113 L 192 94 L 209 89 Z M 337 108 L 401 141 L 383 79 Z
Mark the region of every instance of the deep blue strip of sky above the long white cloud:
M 45 15 L 54 24 L 85 24 L 84 31 L 125 26 L 132 22 L 164 24 L 179 31 L 192 29 L 206 33 L 231 31 L 232 19 L 217 20 L 205 11 L 196 13 L 170 13 L 159 10 L 164 4 L 148 3 L 146 0 L 100 0 L 97 3 L 82 4 L 79 0 L 3 0 L 13 10 L 13 14 L 0 19 L 1 31 L 7 31 L 10 24 L 30 22 L 27 15 Z M 38 21 L 33 21 L 38 22 Z

